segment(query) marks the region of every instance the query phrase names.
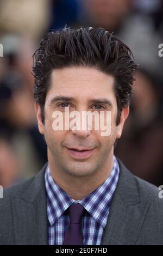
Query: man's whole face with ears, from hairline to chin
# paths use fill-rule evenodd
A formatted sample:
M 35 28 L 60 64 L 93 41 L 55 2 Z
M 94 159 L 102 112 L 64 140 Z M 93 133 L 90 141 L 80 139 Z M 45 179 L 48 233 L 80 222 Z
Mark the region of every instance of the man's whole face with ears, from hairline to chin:
M 62 96 L 62 99 L 56 100 L 58 96 Z M 102 131 L 95 129 L 54 131 L 52 114 L 55 111 L 64 114 L 65 107 L 69 107 L 69 112 L 78 111 L 81 115 L 83 111 L 111 111 L 110 135 L 101 136 Z M 93 174 L 105 166 L 113 155 L 115 139 L 121 137 L 123 123 L 128 116 L 127 107 L 123 109 L 120 124 L 116 126 L 114 77 L 95 68 L 85 67 L 52 71 L 51 86 L 45 101 L 44 125 L 41 121 L 40 106 L 36 104 L 35 109 L 39 130 L 44 134 L 47 143 L 48 157 L 55 163 L 55 168 L 76 176 Z M 79 153 L 80 149 L 91 151 Z

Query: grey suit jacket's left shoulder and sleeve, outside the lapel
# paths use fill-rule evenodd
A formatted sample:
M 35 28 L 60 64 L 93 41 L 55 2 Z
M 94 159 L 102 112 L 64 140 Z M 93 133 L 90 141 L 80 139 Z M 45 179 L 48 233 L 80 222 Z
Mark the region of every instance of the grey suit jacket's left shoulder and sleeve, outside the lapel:
M 44 174 L 46 166 L 32 178 L 28 178 L 3 191 L 3 198 L 0 199 L 0 245 L 12 244 L 13 220 L 12 213 L 15 209 L 16 198 L 32 202 L 38 192 L 44 186 Z

